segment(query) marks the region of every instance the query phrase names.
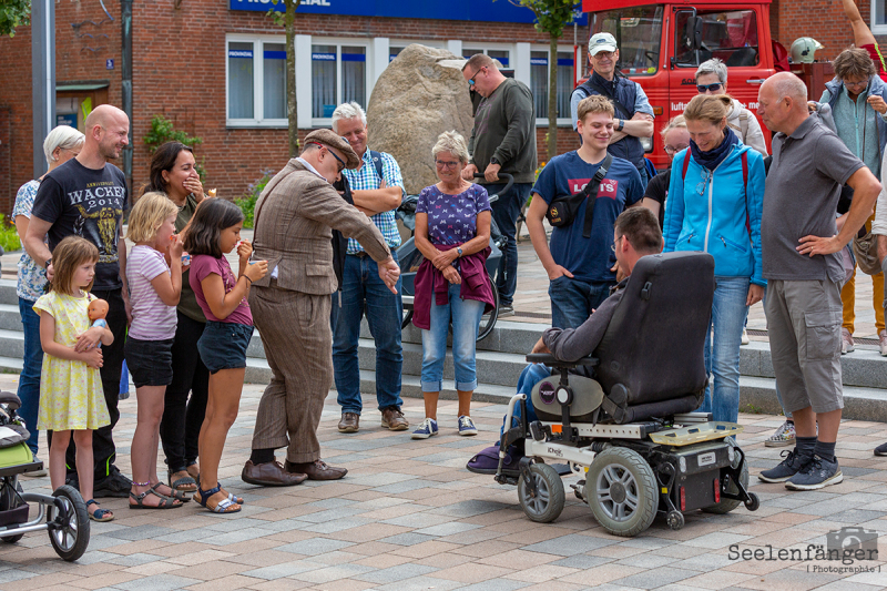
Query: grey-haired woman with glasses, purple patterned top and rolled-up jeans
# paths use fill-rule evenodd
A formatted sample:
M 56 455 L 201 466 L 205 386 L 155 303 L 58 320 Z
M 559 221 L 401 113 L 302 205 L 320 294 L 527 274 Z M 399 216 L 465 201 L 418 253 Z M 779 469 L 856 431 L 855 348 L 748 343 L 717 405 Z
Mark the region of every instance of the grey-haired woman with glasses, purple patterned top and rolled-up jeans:
M 462 179 L 468 147 L 459 133 L 441 133 L 431 155 L 440 181 L 422 188 L 416 205 L 416 247 L 425 261 L 416 273 L 412 324 L 422 329 L 425 420 L 412 431 L 414 439 L 438 434 L 437 400 L 450 323 L 457 429 L 459 435 L 477 435 L 470 416 L 478 385 L 475 344 L 483 313 L 495 306 L 487 274 L 491 220 L 487 190 Z

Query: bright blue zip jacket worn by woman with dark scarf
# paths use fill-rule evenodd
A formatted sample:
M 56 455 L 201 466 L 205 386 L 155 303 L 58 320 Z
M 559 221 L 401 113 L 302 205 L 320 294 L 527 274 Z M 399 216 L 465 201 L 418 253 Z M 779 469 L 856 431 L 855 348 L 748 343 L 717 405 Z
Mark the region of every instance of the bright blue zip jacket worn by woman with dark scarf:
M 748 183 L 743 190 L 742 153 L 746 153 Z M 690 159 L 686 179 L 684 159 Z M 665 202 L 665 252 L 703 251 L 714 256 L 714 273 L 750 277 L 766 285 L 761 264 L 761 212 L 764 207 L 764 157 L 736 144 L 712 174 L 690 150 L 672 162 Z

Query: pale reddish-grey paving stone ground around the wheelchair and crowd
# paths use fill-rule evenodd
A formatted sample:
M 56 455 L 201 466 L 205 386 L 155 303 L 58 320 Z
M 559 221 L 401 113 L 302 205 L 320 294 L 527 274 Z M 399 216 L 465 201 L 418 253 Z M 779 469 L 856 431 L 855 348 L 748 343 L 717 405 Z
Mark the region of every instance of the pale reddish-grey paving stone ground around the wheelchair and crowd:
M 14 380 L 0 376 L 0 388 L 14 389 Z M 130 511 L 125 499 L 103 499 L 116 519 L 91 523 L 89 551 L 77 563 L 59 559 L 45 532 L 0 544 L 0 590 L 887 588 L 887 460 L 871 455 L 887 440 L 884 424 L 844 424 L 837 447 L 843 483 L 789 492 L 755 478 L 779 457 L 782 450 L 764 447 L 763 440 L 781 419 L 741 415 L 745 432 L 738 441 L 748 454 L 761 508 L 754 513 L 740 508 L 726 516 L 689 514 L 680 531 L 657 520 L 626 539 L 608 534 L 572 496 L 554 523 L 533 523 L 521 511 L 514 487 L 465 469 L 476 451 L 497 438 L 501 405 L 476 404 L 472 416 L 480 434 L 460 438 L 456 403 L 441 400 L 440 435 L 412 441 L 408 431 L 381 430 L 375 410 L 364 412 L 360 432 L 339 434 L 334 393 L 319 438 L 324 459 L 346 466 L 348 476 L 293 488 L 246 485 L 239 472 L 249 454 L 261 393 L 261 386 L 245 388 L 222 459 L 223 483 L 246 501 L 241 513 L 214 516 L 194 502 L 170 511 Z M 375 408 L 375 399 L 367 398 L 365 408 Z M 121 410 L 115 439 L 119 466 L 129 473 L 134 397 L 122 401 Z M 407 399 L 405 411 L 417 422 L 421 401 Z M 568 491 L 575 479 L 565 478 Z M 48 478 L 22 483 L 28 491 L 49 492 Z M 761 551 L 768 558 L 768 544 L 776 557 L 779 549 L 805 551 L 808 544 L 824 544 L 829 531 L 848 526 L 881 536 L 879 557 L 885 558 L 855 564 L 874 572 L 815 572 L 840 564 L 742 560 L 737 554 L 748 551 L 753 558 Z

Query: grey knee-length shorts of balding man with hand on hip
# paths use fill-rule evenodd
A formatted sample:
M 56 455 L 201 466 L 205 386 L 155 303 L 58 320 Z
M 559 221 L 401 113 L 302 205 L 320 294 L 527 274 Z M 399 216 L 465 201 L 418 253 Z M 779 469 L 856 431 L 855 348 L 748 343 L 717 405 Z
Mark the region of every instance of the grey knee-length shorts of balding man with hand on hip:
M 840 286 L 826 281 L 767 281 L 767 334 L 785 409 L 844 408 Z

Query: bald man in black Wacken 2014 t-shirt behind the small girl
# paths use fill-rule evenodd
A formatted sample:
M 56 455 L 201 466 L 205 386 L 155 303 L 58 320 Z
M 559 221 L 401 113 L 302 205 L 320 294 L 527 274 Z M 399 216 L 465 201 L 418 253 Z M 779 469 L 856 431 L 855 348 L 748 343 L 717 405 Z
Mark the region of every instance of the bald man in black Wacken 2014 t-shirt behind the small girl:
M 126 289 L 126 246 L 121 236 L 123 211 L 129 192 L 123 173 L 109 160 L 120 157 L 129 143 L 130 120 L 114 106 L 96 106 L 85 121 L 86 141 L 80 154 L 43 177 L 34 197 L 24 248 L 52 277 L 52 255 L 62 238 L 82 236 L 99 248 L 92 293 L 109 305 L 108 327 L 114 343 L 102 348 L 102 388 L 111 425 L 92 437 L 95 488 L 94 497 L 128 497 L 132 482 L 113 465 L 115 458 L 112 429 L 120 418 L 118 395 L 123 365 L 123 345 L 129 324 L 130 303 Z M 49 235 L 49 247 L 43 236 Z M 98 346 L 84 333 L 77 350 Z M 51 434 L 50 434 L 51 435 Z M 77 481 L 74 445 L 68 448 L 69 481 Z

